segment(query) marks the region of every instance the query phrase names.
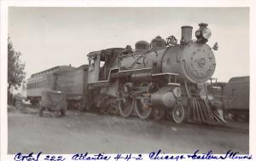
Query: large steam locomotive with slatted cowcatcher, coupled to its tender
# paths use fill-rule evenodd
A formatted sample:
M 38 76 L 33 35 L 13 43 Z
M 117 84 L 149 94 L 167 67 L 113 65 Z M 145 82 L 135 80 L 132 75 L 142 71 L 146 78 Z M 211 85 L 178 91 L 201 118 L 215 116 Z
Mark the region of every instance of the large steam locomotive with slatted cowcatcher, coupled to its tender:
M 88 66 L 55 72 L 53 89 L 67 92 L 69 106 L 123 117 L 161 119 L 167 113 L 178 124 L 224 122 L 221 103 L 206 83 L 215 70 L 212 49 L 218 43 L 207 45 L 211 30 L 206 23 L 199 26 L 195 41 L 192 26 L 182 26 L 180 43 L 174 36 L 158 36 L 137 42 L 135 50 L 128 45 L 90 52 Z M 72 77 L 74 72 L 79 77 Z

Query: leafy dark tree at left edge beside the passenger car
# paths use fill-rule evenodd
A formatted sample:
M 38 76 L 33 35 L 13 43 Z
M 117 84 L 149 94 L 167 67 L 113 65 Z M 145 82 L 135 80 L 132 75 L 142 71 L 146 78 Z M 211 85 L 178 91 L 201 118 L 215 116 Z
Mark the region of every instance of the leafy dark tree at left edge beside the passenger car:
M 26 76 L 25 63 L 20 61 L 21 53 L 15 51 L 13 43 L 8 37 L 8 93 L 11 96 L 10 89 L 18 89 Z M 11 100 L 11 98 L 9 98 Z

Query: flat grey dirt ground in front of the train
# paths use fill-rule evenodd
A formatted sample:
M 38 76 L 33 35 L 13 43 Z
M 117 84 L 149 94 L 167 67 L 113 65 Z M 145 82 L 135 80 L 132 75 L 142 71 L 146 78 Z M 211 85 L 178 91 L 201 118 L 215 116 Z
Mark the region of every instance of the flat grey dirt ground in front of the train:
M 38 116 L 37 109 L 9 107 L 8 152 L 153 152 L 249 151 L 248 124 L 226 128 L 198 124 L 67 112 L 63 118 Z

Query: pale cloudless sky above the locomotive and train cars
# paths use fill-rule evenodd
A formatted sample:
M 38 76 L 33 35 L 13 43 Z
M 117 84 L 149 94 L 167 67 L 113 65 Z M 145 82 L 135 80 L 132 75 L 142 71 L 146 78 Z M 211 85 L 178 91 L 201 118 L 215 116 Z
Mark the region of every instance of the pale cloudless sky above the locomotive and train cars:
M 26 63 L 26 78 L 53 66 L 81 66 L 87 54 L 125 48 L 160 35 L 181 35 L 181 26 L 201 22 L 212 31 L 213 78 L 227 82 L 249 72 L 249 8 L 20 8 L 9 7 L 8 33 Z

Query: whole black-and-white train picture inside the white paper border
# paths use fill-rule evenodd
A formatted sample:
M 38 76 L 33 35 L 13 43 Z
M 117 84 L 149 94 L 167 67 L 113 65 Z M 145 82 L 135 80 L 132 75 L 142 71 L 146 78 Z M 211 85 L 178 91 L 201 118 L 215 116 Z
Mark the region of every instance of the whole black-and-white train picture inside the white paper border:
M 8 7 L 8 154 L 249 154 L 249 7 Z M 252 116 L 252 115 L 251 115 Z

